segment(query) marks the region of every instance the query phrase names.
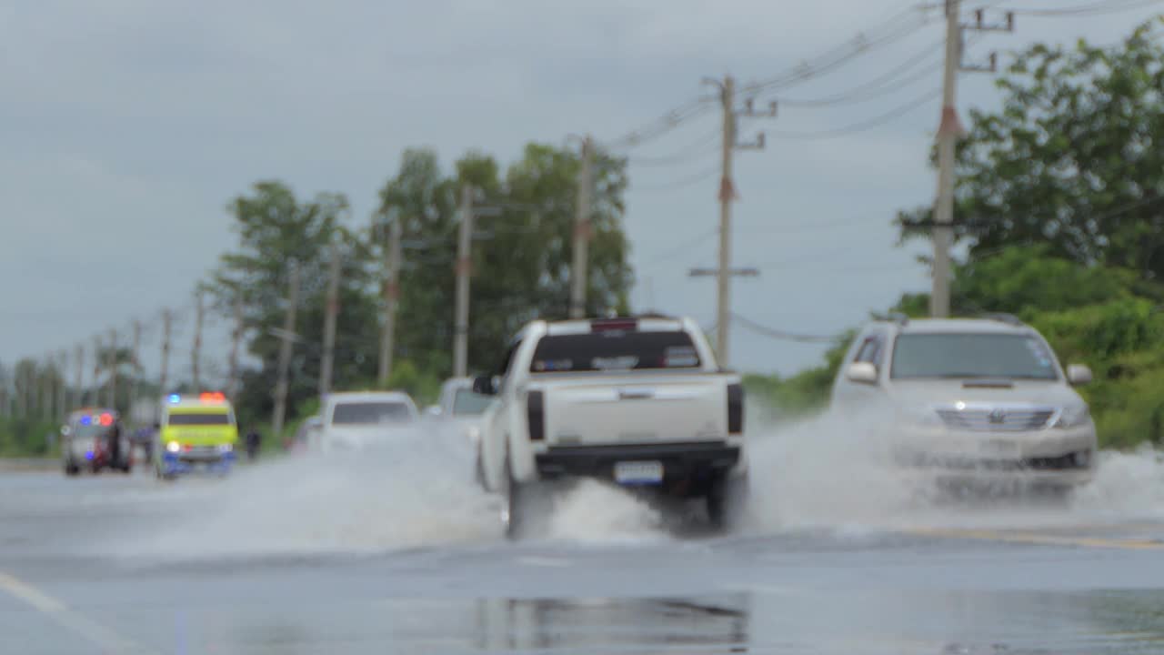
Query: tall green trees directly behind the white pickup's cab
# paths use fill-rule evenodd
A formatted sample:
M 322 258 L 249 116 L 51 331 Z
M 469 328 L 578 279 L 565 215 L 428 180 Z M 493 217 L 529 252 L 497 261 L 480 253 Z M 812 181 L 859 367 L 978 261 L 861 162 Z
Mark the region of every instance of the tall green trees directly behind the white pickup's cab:
M 470 302 L 470 367 L 491 366 L 520 325 L 539 316 L 565 316 L 577 174 L 574 153 L 531 143 L 501 176 L 492 157 L 470 153 L 441 172 L 435 154 L 407 150 L 399 172 L 381 191 L 372 240 L 378 248 L 391 220 L 400 220 L 406 265 L 400 281 L 398 355 L 420 369 L 447 375 L 452 368 L 457 204 L 462 185 L 475 204 L 497 210 L 476 220 Z M 623 163 L 601 156 L 595 167 L 592 247 L 588 310 L 626 311 L 633 281 L 622 231 Z

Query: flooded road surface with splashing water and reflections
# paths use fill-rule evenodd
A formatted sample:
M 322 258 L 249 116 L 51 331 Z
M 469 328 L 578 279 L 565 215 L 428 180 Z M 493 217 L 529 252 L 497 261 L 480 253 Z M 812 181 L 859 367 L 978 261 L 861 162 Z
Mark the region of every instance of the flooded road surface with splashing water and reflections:
M 822 520 L 785 498 L 785 524 L 716 536 L 582 484 L 511 543 L 489 499 L 425 460 L 3 473 L 0 653 L 1164 652 L 1162 508 L 1102 485 L 844 514 L 822 481 Z

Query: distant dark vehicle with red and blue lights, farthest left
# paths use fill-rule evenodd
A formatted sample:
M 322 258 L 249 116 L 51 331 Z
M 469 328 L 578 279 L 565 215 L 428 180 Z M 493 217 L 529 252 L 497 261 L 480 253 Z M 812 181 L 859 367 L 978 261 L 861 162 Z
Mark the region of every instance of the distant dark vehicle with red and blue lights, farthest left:
M 118 456 L 109 449 L 111 432 L 120 425 L 121 416 L 114 409 L 87 407 L 69 414 L 61 428 L 61 464 L 66 476 L 84 469 L 98 473 L 104 469 L 129 473 L 133 471 L 133 443 L 120 429 Z

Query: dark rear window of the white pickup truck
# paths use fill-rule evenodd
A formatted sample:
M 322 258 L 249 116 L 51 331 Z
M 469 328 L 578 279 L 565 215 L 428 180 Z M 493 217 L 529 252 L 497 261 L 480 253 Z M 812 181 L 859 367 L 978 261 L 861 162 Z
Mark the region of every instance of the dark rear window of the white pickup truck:
M 542 337 L 531 373 L 700 368 L 687 332 L 605 331 Z

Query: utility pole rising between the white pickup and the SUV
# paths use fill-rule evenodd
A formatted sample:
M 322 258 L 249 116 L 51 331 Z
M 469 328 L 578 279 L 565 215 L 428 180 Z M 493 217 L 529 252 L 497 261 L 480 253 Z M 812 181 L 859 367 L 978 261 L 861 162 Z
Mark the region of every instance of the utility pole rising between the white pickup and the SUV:
M 774 118 L 776 115 L 776 104 L 768 105 L 767 113 L 753 111 L 753 100 L 745 100 L 744 110 L 736 108 L 736 79 L 732 76 L 724 76 L 723 82 L 718 79 L 707 79 L 707 84 L 714 84 L 719 90 L 719 104 L 723 112 L 723 143 L 721 153 L 721 177 L 719 177 L 719 266 L 716 270 L 716 355 L 721 366 L 728 366 L 730 351 L 728 347 L 729 334 L 731 332 L 731 203 L 736 199 L 736 183 L 733 179 L 733 154 L 736 150 L 762 150 L 764 133 L 761 132 L 752 143 L 740 143 L 737 135 L 737 118 Z

